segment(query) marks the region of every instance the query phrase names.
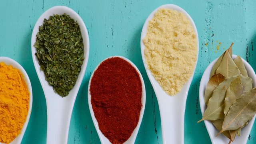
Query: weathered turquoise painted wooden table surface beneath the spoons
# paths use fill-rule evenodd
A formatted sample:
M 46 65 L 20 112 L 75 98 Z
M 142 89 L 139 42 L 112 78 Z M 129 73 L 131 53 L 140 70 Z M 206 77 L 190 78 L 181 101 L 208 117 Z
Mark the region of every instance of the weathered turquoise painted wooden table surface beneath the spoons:
M 198 90 L 208 64 L 220 56 L 231 42 L 233 53 L 242 56 L 256 70 L 256 2 L 253 0 L 0 0 L 0 56 L 19 62 L 30 77 L 33 107 L 23 144 L 46 143 L 46 102 L 31 56 L 31 34 L 39 16 L 48 8 L 64 5 L 84 20 L 90 37 L 86 74 L 74 105 L 68 143 L 98 144 L 100 140 L 90 116 L 88 80 L 103 59 L 120 55 L 130 59 L 146 84 L 146 108 L 136 139 L 138 144 L 162 143 L 160 114 L 154 90 L 140 54 L 140 34 L 148 15 L 162 4 L 177 4 L 194 19 L 199 35 L 199 56 L 185 113 L 185 144 L 208 144 L 210 138 L 202 117 Z M 256 143 L 256 124 L 248 144 Z

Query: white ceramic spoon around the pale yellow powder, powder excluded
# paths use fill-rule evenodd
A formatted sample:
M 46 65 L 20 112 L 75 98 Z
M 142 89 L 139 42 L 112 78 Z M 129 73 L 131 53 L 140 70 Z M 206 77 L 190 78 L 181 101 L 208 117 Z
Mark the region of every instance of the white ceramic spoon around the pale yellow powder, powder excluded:
M 154 79 L 154 76 L 152 76 L 150 70 L 148 69 L 148 66 L 146 64 L 146 60 L 144 57 L 145 46 L 143 43 L 143 38 L 146 36 L 148 22 L 154 17 L 154 14 L 160 8 L 169 8 L 185 14 L 190 20 L 194 28 L 194 31 L 196 33 L 196 38 L 197 38 L 197 44 L 199 44 L 198 34 L 197 34 L 194 21 L 185 10 L 183 10 L 182 8 L 174 4 L 165 4 L 156 8 L 148 16 L 142 28 L 141 38 L 140 38 L 142 60 L 143 60 L 146 72 L 148 74 L 148 78 L 152 84 L 152 87 L 154 88 L 154 91 L 156 93 L 156 98 L 158 100 L 160 117 L 161 117 L 163 143 L 164 144 L 183 144 L 184 143 L 184 114 L 185 114 L 185 107 L 186 107 L 186 99 L 188 96 L 188 90 L 189 90 L 191 81 L 194 76 L 194 72 L 192 76 L 189 78 L 188 82 L 184 84 L 182 90 L 178 94 L 176 94 L 175 96 L 169 96 L 168 94 L 166 94 L 166 92 L 164 92 L 164 90 L 161 88 L 158 82 Z M 195 68 L 196 68 L 196 64 L 195 64 Z

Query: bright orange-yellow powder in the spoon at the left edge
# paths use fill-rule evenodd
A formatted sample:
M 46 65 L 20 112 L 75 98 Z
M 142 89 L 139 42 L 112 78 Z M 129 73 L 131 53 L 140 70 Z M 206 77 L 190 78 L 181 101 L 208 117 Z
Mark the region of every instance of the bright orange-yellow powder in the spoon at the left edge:
M 21 72 L 0 63 L 0 142 L 20 134 L 28 115 L 29 91 Z

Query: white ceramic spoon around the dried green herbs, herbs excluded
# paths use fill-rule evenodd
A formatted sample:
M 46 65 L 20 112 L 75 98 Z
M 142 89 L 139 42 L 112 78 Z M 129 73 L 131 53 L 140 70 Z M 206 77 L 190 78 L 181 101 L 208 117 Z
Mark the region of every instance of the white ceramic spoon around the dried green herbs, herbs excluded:
M 40 65 L 38 63 L 38 59 L 35 55 L 36 48 L 34 47 L 34 43 L 36 42 L 36 34 L 38 32 L 38 27 L 43 24 L 44 18 L 48 19 L 53 14 L 64 14 L 66 13 L 75 21 L 78 22 L 80 26 L 80 30 L 83 37 L 84 43 L 84 62 L 82 64 L 81 71 L 78 75 L 78 79 L 76 80 L 76 85 L 70 90 L 68 96 L 62 98 L 57 93 L 54 92 L 52 86 L 48 84 L 45 80 L 45 75 L 42 70 L 40 70 Z M 36 73 L 38 75 L 39 81 L 44 90 L 44 95 L 46 99 L 47 106 L 47 144 L 66 144 L 68 141 L 68 131 L 70 125 L 70 118 L 74 106 L 74 102 L 76 100 L 76 95 L 80 88 L 81 82 L 84 77 L 84 72 L 86 70 L 86 66 L 88 63 L 89 56 L 89 36 L 86 29 L 86 26 L 80 18 L 80 16 L 72 9 L 66 6 L 54 6 L 46 12 L 44 12 L 40 18 L 37 20 L 34 30 L 32 32 L 31 38 L 31 49 L 32 49 L 32 58 L 34 62 L 34 66 L 36 68 Z

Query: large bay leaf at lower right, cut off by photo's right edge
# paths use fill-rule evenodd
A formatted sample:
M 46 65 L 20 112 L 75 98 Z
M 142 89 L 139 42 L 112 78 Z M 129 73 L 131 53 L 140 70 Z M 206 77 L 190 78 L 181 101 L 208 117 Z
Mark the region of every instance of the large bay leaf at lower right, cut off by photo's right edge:
M 256 113 L 256 88 L 244 92 L 230 107 L 224 118 L 222 133 L 226 130 L 236 130 L 246 124 Z M 217 135 L 218 135 L 217 134 Z

